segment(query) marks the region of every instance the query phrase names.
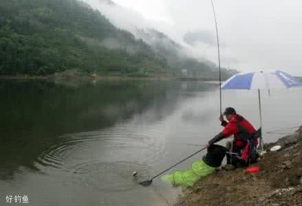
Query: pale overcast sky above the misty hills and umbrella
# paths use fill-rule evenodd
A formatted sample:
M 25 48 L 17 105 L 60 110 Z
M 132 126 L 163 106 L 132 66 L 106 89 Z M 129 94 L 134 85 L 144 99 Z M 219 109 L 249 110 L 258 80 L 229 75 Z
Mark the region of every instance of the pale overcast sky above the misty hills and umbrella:
M 89 1 L 89 0 L 87 0 Z M 90 0 L 93 1 L 93 0 Z M 187 32 L 215 38 L 210 0 L 114 0 L 128 8 L 137 21 L 155 27 L 186 45 Z M 280 69 L 302 76 L 301 0 L 213 0 L 217 14 L 222 67 L 240 71 Z M 142 16 L 142 18 L 139 18 Z M 205 41 L 187 45 L 194 56 L 217 62 L 217 48 Z

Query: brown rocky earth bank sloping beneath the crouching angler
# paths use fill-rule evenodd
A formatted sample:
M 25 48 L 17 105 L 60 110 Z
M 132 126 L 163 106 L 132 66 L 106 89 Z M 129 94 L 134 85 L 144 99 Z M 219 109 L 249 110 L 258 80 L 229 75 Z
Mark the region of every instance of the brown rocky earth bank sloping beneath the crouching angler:
M 281 149 L 270 152 L 277 145 Z M 185 189 L 175 205 L 302 205 L 302 127 L 264 148 L 266 154 L 255 164 L 259 174 L 218 170 Z

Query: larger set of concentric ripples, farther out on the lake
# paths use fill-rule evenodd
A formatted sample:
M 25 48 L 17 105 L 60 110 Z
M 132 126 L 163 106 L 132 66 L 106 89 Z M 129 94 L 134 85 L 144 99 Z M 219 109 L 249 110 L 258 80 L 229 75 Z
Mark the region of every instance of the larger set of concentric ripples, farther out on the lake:
M 139 160 L 140 162 L 156 159 L 158 155 L 164 152 L 162 142 L 158 141 L 157 138 L 153 138 L 158 134 L 150 133 L 149 130 L 142 128 L 135 128 L 134 131 L 133 126 L 120 126 L 114 128 L 114 130 L 109 128 L 107 130 L 63 135 L 58 138 L 61 142 L 50 146 L 38 157 L 36 162 L 41 165 L 42 170 L 45 168 L 68 170 L 69 166 L 76 162 L 91 161 L 89 155 L 94 155 L 94 152 L 97 153 L 96 155 L 102 156 L 104 152 L 116 151 L 123 157 L 126 153 L 128 155 L 128 153 L 136 151 L 130 154 L 131 161 Z M 86 156 L 83 154 L 86 154 Z M 138 155 L 136 160 L 133 159 L 135 155 Z M 100 159 L 98 160 L 100 161 Z M 104 160 L 117 161 L 120 158 Z

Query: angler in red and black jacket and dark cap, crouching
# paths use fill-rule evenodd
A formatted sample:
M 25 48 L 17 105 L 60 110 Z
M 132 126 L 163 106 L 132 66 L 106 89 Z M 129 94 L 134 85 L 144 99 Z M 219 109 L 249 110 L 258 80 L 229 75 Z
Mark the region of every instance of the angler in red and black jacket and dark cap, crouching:
M 259 131 L 256 131 L 252 124 L 241 115 L 238 115 L 232 107 L 226 108 L 226 111 L 222 115 L 226 116 L 228 122 L 224 120 L 223 116 L 219 117 L 224 130 L 208 141 L 206 147 L 234 135 L 233 142 L 228 141 L 226 144 L 226 148 L 230 150 L 226 154 L 227 164 L 237 166 L 237 164 L 248 165 L 249 163 L 255 163 L 258 158 Z

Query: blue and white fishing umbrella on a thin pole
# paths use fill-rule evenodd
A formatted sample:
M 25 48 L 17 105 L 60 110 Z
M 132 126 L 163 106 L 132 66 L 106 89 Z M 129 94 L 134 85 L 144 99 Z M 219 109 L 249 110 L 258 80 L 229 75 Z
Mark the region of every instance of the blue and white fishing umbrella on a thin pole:
M 257 89 L 259 98 L 260 127 L 262 128 L 260 89 L 301 87 L 302 82 L 283 71 L 254 71 L 238 73 L 222 84 L 222 89 Z M 263 140 L 260 144 L 263 149 Z

